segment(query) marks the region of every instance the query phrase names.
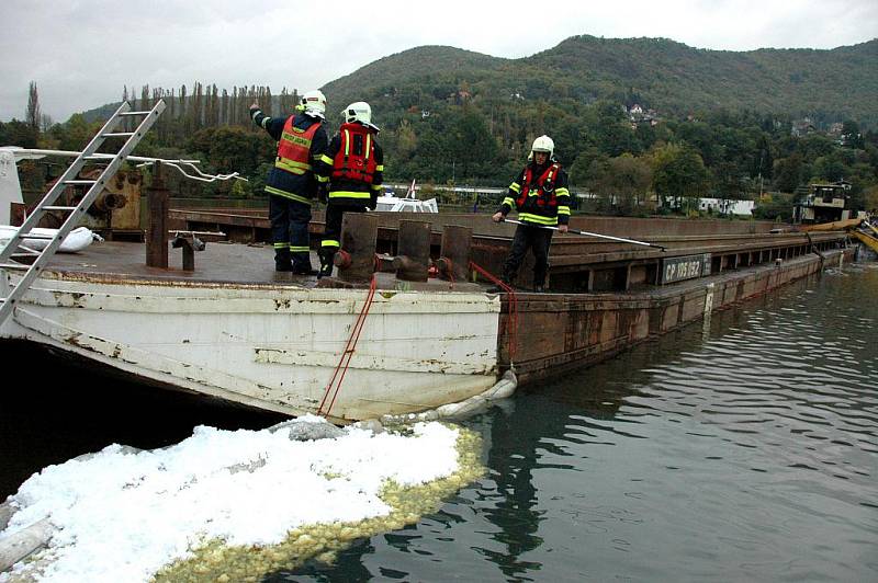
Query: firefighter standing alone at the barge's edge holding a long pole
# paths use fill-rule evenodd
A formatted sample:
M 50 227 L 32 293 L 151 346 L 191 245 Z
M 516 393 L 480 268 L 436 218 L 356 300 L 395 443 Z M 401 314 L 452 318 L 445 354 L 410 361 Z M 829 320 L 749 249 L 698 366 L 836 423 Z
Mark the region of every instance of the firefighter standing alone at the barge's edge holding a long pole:
M 545 276 L 549 273 L 552 229 L 547 227 L 558 227 L 559 231 L 567 232 L 570 220 L 567 174 L 554 159 L 554 141 L 549 136 L 540 136 L 533 140 L 528 164 L 509 185 L 509 192 L 499 210 L 491 217 L 499 222 L 513 208 L 518 210 L 518 220 L 524 225 L 515 230 L 513 247 L 503 265 L 502 278 L 507 285 L 515 281 L 518 267 L 530 249 L 536 260 L 533 292 L 538 293 L 544 290 Z

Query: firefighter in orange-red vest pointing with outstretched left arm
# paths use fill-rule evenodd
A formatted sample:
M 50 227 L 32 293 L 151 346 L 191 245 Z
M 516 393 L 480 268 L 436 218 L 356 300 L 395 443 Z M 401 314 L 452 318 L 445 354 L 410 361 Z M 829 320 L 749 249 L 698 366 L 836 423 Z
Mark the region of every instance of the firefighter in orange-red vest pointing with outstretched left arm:
M 311 265 L 308 222 L 312 201 L 328 183 L 328 178 L 314 172 L 329 141 L 323 126 L 326 98 L 319 90 L 308 91 L 296 110 L 299 113 L 285 118 L 269 117 L 254 103 L 250 117 L 278 140 L 278 156 L 266 181 L 274 271 L 316 275 Z

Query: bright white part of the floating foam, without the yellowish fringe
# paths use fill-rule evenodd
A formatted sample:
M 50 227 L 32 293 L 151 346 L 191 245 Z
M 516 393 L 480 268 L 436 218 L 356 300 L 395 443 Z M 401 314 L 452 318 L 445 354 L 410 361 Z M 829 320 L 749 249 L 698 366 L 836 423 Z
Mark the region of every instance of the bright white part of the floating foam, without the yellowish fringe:
M 304 525 L 389 514 L 378 496 L 386 480 L 414 485 L 458 469 L 455 430 L 413 428 L 291 442 L 283 431 L 200 426 L 167 449 L 111 445 L 25 481 L 2 536 L 48 517 L 58 530 L 43 581 L 147 581 L 206 538 L 271 545 Z

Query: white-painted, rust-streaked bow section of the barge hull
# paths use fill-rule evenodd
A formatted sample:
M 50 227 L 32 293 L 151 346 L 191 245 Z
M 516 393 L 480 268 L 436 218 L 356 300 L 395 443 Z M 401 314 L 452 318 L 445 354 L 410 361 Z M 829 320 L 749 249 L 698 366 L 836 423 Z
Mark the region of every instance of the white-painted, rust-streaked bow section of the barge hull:
M 297 415 L 317 412 L 367 294 L 44 276 L 0 338 Z M 417 412 L 491 388 L 499 308 L 485 294 L 376 292 L 330 416 Z

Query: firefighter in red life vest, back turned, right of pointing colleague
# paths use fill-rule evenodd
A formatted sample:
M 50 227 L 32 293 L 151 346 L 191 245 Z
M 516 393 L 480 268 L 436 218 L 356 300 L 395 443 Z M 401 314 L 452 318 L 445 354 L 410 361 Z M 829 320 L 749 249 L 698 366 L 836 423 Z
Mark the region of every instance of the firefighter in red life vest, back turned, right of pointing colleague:
M 345 213 L 374 210 L 384 173 L 384 153 L 375 141 L 379 128 L 372 124 L 368 103 L 351 103 L 341 112 L 345 123 L 320 157 L 318 172 L 329 178 L 326 230 L 320 242 L 318 277 L 333 274 L 333 259 L 340 247 Z

